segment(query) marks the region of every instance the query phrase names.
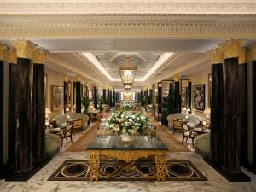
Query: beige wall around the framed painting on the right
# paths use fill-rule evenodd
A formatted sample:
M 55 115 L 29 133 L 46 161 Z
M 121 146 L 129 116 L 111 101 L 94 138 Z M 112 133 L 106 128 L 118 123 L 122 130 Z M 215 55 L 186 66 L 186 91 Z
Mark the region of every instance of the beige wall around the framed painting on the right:
M 211 73 L 211 69 L 201 72 L 201 73 L 195 73 L 191 74 L 191 82 L 192 82 L 192 113 L 195 113 L 196 115 L 202 116 L 202 112 L 198 112 L 193 110 L 193 85 L 197 84 L 205 84 L 205 108 L 210 108 L 209 104 L 209 98 L 208 98 L 208 74 Z M 204 115 L 203 115 L 204 116 Z

